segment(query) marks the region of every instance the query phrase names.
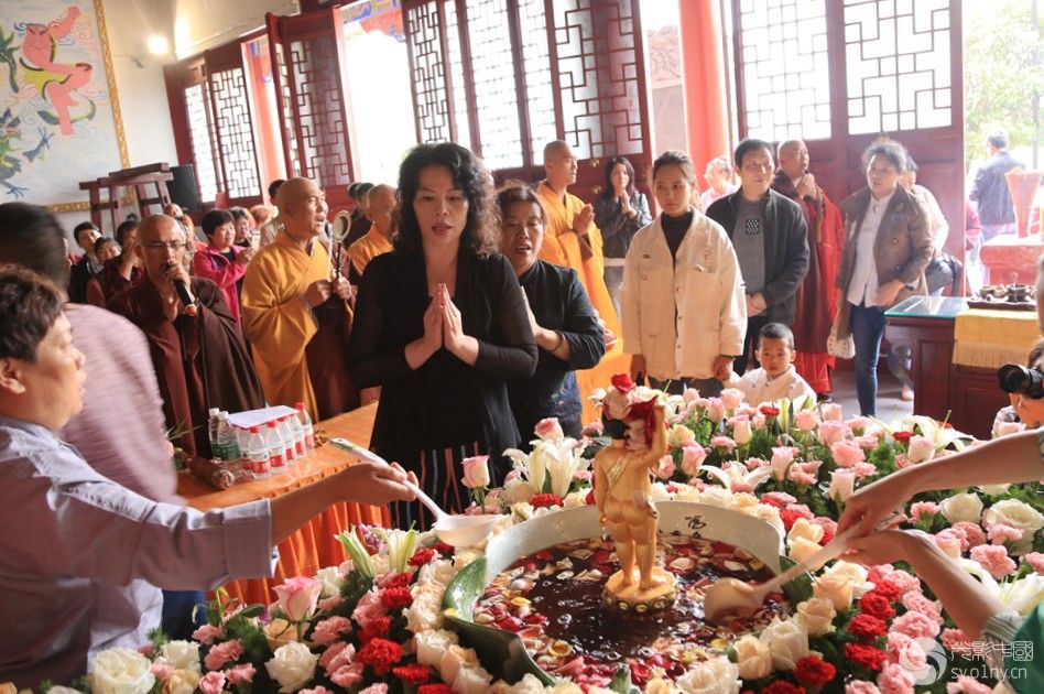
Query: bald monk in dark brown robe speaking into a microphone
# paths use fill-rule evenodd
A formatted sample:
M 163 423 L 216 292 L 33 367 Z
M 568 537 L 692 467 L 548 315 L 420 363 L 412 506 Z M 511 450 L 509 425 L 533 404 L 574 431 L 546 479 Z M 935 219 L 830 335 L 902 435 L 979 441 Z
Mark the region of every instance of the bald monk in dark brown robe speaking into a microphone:
M 254 410 L 264 398 L 221 290 L 206 278 L 188 276 L 186 242 L 184 228 L 172 217 L 142 219 L 133 252 L 144 274 L 113 296 L 109 310 L 145 334 L 166 426 L 181 433 L 178 445 L 209 457 L 207 411 Z M 178 295 L 176 282 L 185 285 L 186 297 Z

